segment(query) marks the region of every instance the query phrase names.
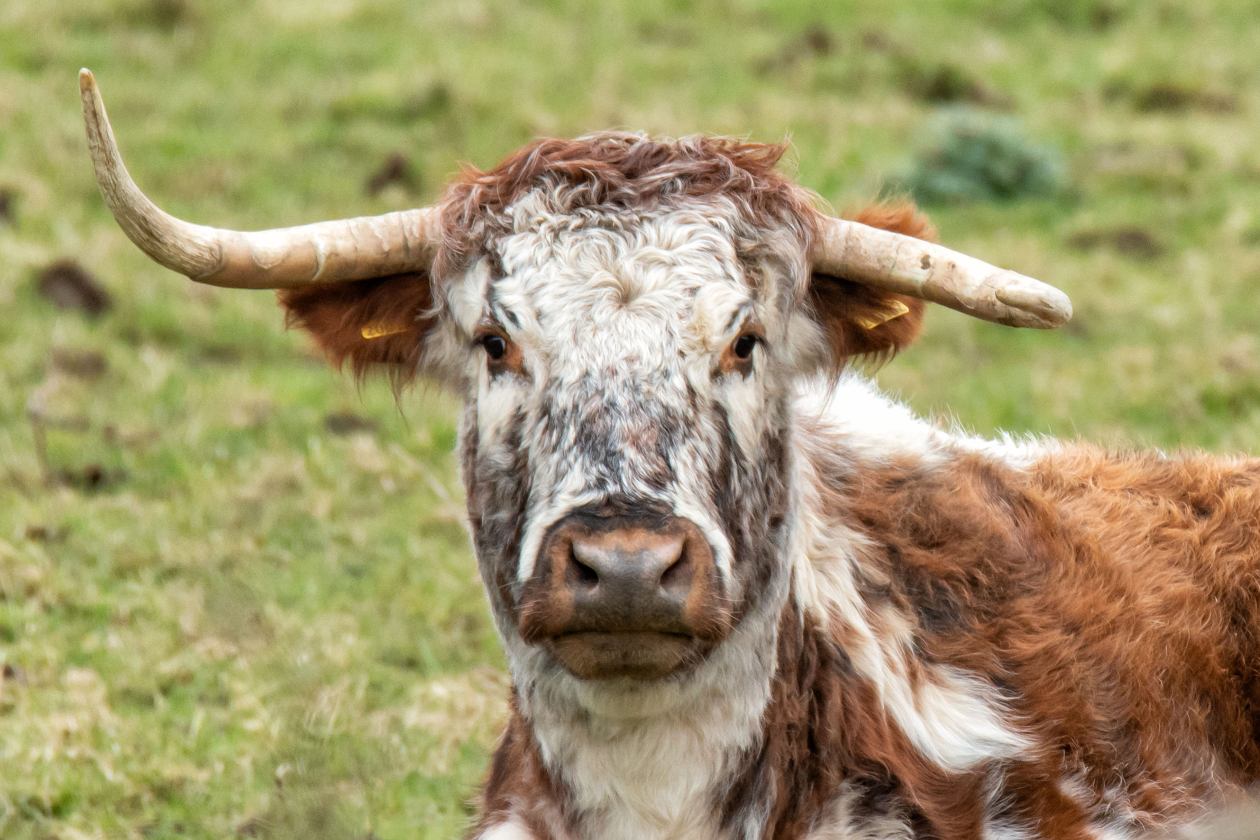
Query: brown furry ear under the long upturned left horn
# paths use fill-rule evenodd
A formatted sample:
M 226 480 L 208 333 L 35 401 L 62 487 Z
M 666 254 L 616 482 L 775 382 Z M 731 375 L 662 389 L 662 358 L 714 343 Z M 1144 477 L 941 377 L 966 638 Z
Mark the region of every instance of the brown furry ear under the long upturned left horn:
M 415 378 L 436 320 L 427 272 L 287 288 L 277 297 L 285 322 L 310 332 L 335 368 L 349 361 L 360 379 L 384 370 L 394 388 Z

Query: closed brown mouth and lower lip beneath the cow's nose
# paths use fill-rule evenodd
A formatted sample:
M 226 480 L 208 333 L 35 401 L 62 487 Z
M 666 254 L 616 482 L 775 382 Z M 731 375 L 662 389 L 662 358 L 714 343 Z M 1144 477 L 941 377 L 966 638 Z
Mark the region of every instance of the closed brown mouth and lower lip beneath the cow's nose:
M 581 680 L 653 681 L 693 667 L 712 645 L 684 633 L 583 631 L 553 636 L 546 647 Z

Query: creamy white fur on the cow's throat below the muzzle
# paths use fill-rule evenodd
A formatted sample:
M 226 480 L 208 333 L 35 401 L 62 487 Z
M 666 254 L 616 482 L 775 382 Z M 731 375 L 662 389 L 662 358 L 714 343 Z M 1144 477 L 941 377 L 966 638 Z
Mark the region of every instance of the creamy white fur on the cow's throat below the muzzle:
M 650 686 L 633 703 L 575 696 L 562 676 L 522 685 L 519 728 L 549 785 L 530 811 L 547 815 L 534 825 L 553 827 L 536 836 L 726 836 L 731 780 L 746 773 L 762 741 L 786 592 L 775 601 L 746 616 L 689 678 Z M 557 825 L 568 834 L 556 834 Z

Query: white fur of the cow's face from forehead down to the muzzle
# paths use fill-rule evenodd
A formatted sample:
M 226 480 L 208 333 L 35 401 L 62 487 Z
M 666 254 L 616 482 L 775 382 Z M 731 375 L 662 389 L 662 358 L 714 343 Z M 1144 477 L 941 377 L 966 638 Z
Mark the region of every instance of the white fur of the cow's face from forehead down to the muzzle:
M 756 460 L 767 400 L 825 346 L 796 311 L 803 234 L 755 229 L 722 196 L 636 213 L 564 204 L 539 189 L 508 208 L 505 233 L 447 297 L 464 348 L 493 321 L 522 351 L 524 375 L 491 375 L 476 348 L 461 372 L 479 452 L 510 457 L 514 418 L 525 426 L 512 443 L 532 472 L 518 579 L 552 523 L 612 496 L 692 519 L 728 573 L 709 497 L 719 438 Z M 765 336 L 751 374 L 723 374 L 722 351 L 750 327 Z

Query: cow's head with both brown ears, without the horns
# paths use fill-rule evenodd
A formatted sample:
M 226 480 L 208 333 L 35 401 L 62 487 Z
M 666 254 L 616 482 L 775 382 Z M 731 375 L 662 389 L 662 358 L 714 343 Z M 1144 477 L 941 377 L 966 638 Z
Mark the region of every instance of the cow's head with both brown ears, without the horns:
M 813 210 L 772 162 L 743 193 L 620 201 L 600 174 L 491 173 L 493 191 L 452 191 L 432 278 L 282 297 L 335 359 L 462 394 L 471 533 L 518 686 L 680 685 L 732 637 L 772 635 L 795 383 L 896 350 L 921 316 L 811 277 Z M 922 232 L 910 209 L 862 220 Z

